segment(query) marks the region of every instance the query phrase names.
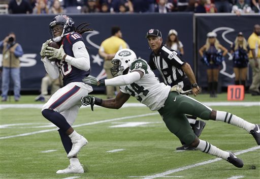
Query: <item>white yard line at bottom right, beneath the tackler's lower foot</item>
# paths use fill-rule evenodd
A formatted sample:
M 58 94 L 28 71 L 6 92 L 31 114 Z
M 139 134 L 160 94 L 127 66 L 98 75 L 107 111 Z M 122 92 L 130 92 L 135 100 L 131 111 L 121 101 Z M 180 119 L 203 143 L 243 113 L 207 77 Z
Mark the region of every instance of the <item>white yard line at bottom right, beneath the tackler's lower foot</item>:
M 247 152 L 255 151 L 259 148 L 260 148 L 260 146 L 248 148 L 246 150 L 236 152 L 235 155 L 240 155 L 240 154 L 244 154 L 244 153 L 247 153 Z M 205 161 L 205 162 L 200 162 L 200 163 L 188 165 L 188 166 L 185 166 L 185 167 L 180 167 L 180 168 L 176 168 L 176 169 L 173 169 L 173 170 L 168 170 L 168 171 L 165 171 L 165 172 L 162 172 L 162 173 L 157 173 L 157 174 L 154 174 L 154 175 L 146 176 L 146 177 L 143 177 L 142 179 L 152 179 L 152 178 L 157 178 L 157 177 L 164 177 L 166 175 L 169 175 L 169 174 L 172 174 L 172 173 L 175 173 L 175 172 L 179 172 L 179 171 L 182 171 L 182 170 L 187 170 L 187 169 L 198 167 L 198 166 L 201 166 L 201 165 L 217 162 L 219 160 L 222 160 L 222 159 L 216 158 L 216 159 L 213 159 L 213 160 L 208 160 L 208 161 Z

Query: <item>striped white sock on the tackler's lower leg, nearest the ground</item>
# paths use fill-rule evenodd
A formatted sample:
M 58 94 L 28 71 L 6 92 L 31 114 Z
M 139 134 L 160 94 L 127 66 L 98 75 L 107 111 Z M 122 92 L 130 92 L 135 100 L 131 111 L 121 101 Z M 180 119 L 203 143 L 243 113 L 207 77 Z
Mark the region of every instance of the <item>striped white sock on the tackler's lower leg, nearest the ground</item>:
M 217 148 L 216 146 L 210 144 L 209 142 L 205 140 L 200 140 L 199 145 L 196 147 L 199 151 L 219 157 L 224 160 L 228 160 L 228 157 L 230 156 L 230 153 L 225 152 Z

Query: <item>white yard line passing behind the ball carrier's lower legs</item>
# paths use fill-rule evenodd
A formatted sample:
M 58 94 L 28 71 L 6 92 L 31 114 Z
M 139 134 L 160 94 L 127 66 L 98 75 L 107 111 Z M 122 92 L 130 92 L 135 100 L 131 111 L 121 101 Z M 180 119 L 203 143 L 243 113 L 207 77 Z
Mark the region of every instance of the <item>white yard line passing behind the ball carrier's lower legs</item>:
M 73 128 L 81 127 L 81 126 L 90 126 L 90 125 L 101 124 L 101 123 L 108 123 L 108 122 L 112 122 L 112 121 L 127 120 L 129 118 L 143 117 L 143 116 L 156 115 L 156 114 L 158 114 L 158 112 L 153 112 L 153 113 L 148 113 L 148 114 L 140 114 L 140 115 L 132 115 L 132 116 L 125 116 L 125 117 L 118 117 L 118 118 L 112 118 L 110 120 L 102 120 L 102 121 L 95 121 L 95 122 L 91 122 L 91 123 L 75 125 L 75 126 L 73 126 Z M 41 131 L 35 131 L 35 132 L 28 132 L 28 133 L 24 133 L 24 134 L 0 137 L 0 139 L 8 139 L 8 138 L 14 138 L 14 137 L 28 136 L 28 135 L 45 133 L 45 132 L 51 132 L 51 131 L 56 131 L 56 130 L 57 130 L 57 128 L 41 130 Z

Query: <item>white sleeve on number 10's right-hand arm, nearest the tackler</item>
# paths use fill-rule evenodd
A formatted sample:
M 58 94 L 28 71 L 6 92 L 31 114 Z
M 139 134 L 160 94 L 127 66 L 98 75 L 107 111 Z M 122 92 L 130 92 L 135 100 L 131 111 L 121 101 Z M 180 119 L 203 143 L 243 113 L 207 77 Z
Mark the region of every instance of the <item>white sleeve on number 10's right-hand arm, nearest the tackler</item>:
M 65 61 L 68 64 L 84 71 L 90 69 L 90 58 L 83 41 L 78 41 L 72 46 L 72 51 L 75 57 L 67 55 Z

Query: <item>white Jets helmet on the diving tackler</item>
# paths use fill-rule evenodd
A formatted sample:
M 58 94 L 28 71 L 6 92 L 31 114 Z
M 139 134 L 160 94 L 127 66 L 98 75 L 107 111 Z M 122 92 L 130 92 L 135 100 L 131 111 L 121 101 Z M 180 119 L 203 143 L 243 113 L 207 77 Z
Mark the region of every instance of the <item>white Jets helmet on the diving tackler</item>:
M 115 57 L 112 59 L 114 67 L 111 68 L 113 76 L 123 75 L 123 72 L 137 59 L 136 53 L 128 48 L 118 50 Z

